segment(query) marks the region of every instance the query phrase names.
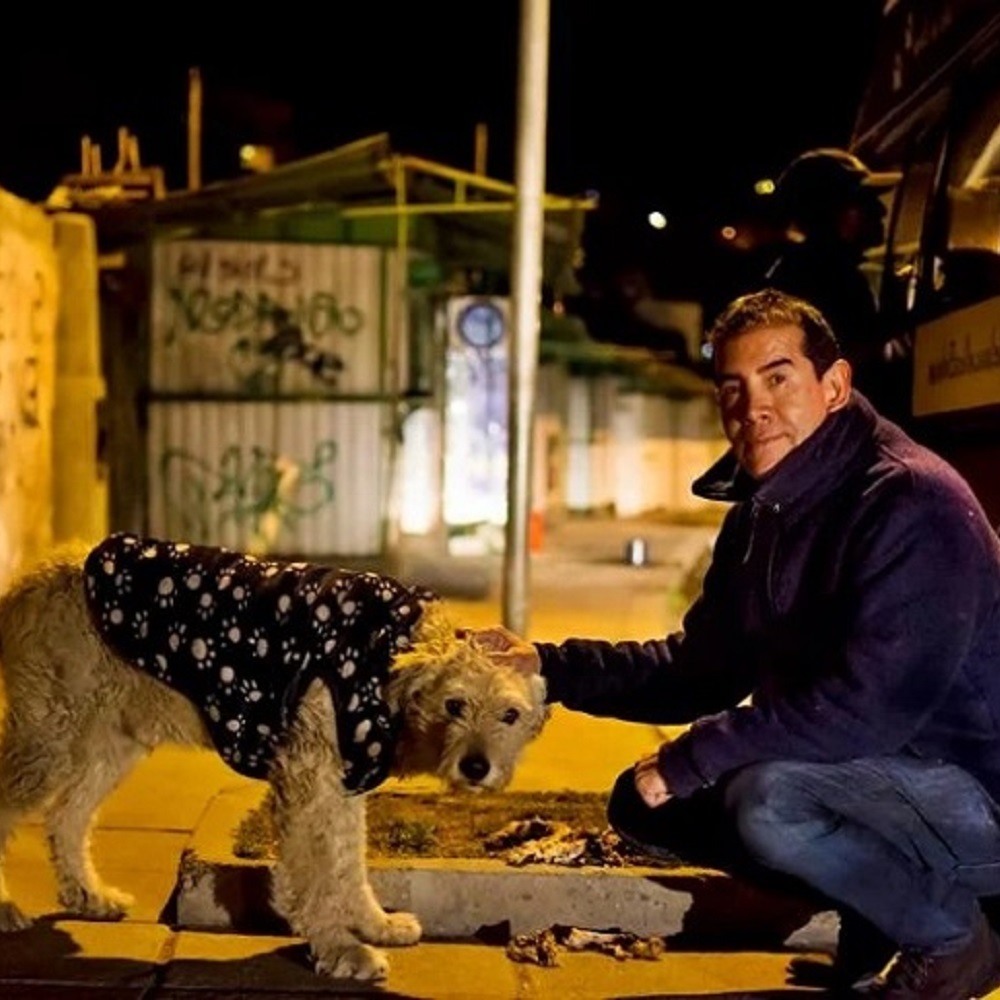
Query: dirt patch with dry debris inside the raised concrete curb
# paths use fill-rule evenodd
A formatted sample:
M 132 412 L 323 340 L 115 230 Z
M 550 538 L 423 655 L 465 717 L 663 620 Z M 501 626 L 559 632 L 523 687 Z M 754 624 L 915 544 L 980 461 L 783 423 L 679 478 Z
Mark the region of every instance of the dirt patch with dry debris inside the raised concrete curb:
M 368 797 L 371 858 L 501 858 L 510 864 L 648 865 L 608 829 L 606 797 L 576 792 Z M 274 860 L 268 803 L 234 833 L 237 857 Z

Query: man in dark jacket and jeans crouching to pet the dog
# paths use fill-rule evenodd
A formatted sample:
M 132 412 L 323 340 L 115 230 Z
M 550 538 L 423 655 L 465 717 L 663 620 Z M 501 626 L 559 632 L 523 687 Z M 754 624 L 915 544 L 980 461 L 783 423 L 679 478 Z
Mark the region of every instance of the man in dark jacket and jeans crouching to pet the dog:
M 732 503 L 663 640 L 479 640 L 593 715 L 691 725 L 618 780 L 650 854 L 805 888 L 843 919 L 841 983 L 1000 985 L 1000 540 L 966 483 L 852 390 L 822 314 L 772 289 L 711 335 Z M 505 650 L 505 652 L 504 652 Z

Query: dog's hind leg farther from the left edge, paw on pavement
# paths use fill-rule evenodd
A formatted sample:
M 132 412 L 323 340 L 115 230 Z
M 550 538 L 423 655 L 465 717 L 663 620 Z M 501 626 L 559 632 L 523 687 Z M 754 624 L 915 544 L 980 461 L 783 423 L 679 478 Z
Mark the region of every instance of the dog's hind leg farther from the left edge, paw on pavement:
M 120 920 L 132 897 L 98 876 L 90 856 L 90 828 L 101 802 L 144 756 L 146 748 L 121 732 L 95 727 L 68 780 L 45 810 L 49 853 L 59 904 L 94 920 Z

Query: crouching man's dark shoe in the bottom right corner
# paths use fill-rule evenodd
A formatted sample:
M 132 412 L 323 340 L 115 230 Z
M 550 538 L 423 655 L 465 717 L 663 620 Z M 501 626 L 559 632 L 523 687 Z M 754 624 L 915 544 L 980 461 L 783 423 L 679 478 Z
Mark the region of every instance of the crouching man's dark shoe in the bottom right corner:
M 1000 986 L 1000 938 L 980 914 L 972 940 L 945 955 L 904 950 L 875 996 L 883 1000 L 970 1000 Z

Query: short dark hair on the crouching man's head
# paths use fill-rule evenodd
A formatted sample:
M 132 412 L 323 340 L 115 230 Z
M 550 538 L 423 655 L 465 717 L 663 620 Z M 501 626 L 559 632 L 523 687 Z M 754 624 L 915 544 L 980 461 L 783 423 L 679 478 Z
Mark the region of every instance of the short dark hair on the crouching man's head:
M 804 299 L 765 288 L 734 299 L 719 314 L 708 333 L 712 356 L 727 341 L 744 333 L 770 326 L 797 326 L 805 334 L 803 353 L 812 362 L 817 377 L 842 357 L 840 344 L 823 314 Z

